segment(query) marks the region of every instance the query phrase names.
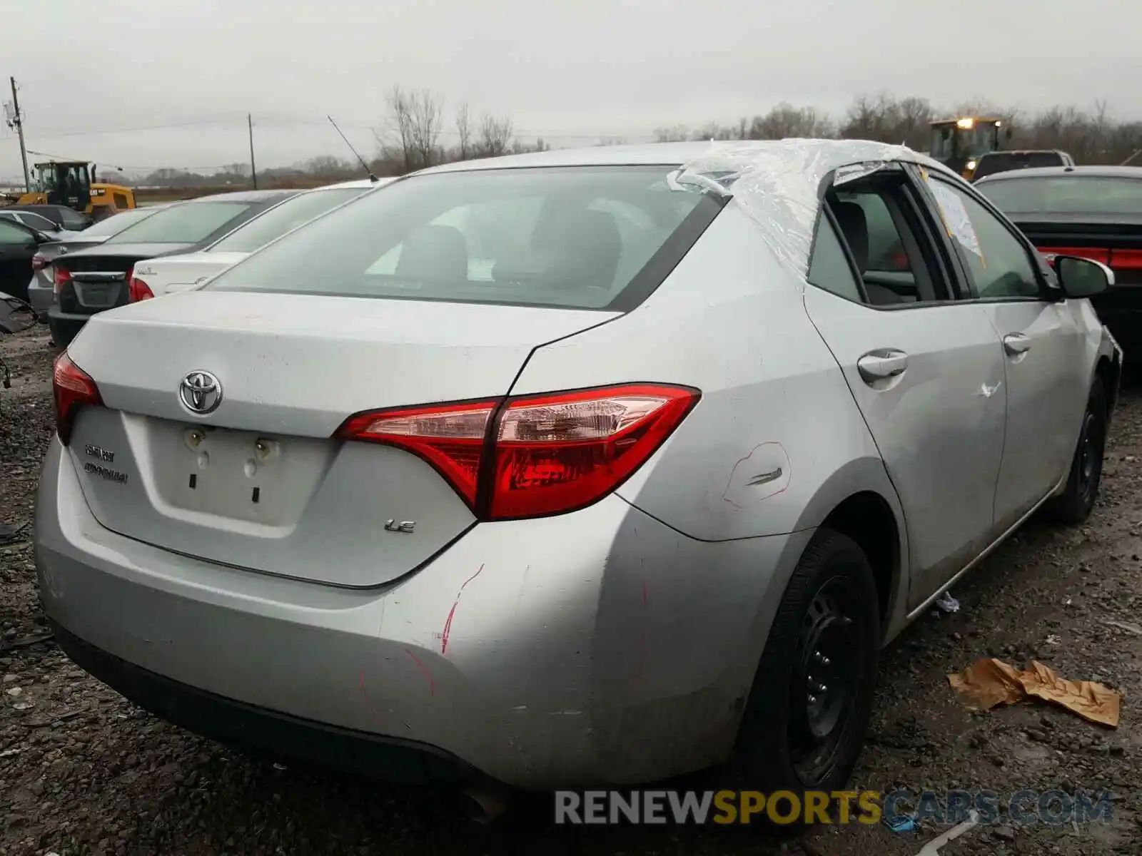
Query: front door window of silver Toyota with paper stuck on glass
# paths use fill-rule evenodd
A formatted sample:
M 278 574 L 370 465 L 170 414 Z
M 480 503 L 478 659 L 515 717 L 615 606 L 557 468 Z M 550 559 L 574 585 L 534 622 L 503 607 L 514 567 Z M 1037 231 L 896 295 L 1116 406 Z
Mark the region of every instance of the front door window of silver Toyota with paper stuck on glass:
M 943 225 L 984 299 L 1038 298 L 1039 277 L 1027 248 L 962 188 L 928 177 Z

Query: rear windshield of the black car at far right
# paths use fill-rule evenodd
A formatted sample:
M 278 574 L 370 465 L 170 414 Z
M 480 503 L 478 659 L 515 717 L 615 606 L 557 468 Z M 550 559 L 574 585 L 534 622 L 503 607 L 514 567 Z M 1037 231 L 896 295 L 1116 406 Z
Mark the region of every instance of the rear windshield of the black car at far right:
M 1142 179 L 1109 176 L 997 178 L 976 185 L 1006 215 L 1137 215 Z

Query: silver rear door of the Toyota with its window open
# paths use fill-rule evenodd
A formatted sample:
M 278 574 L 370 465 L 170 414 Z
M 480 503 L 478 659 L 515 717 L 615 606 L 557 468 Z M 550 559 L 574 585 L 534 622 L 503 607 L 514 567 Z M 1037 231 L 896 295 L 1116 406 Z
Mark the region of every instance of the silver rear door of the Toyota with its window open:
M 916 608 L 994 540 L 1003 352 L 987 310 L 956 299 L 950 255 L 902 168 L 826 194 L 809 280 L 805 308 L 904 512 Z

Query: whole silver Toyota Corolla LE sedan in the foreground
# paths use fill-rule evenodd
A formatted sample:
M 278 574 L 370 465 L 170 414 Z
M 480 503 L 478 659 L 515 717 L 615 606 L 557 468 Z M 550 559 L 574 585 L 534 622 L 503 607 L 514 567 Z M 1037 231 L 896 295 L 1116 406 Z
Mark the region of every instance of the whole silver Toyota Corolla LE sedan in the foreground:
M 882 645 L 1091 512 L 1110 281 L 895 146 L 431 169 L 91 318 L 45 608 L 128 697 L 279 754 L 836 789 Z

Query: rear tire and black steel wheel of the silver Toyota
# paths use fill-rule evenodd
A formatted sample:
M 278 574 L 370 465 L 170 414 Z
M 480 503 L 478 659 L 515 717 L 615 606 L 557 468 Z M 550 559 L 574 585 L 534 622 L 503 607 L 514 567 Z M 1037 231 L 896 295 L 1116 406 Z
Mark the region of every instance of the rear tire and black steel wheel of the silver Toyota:
M 868 558 L 847 535 L 818 530 L 778 607 L 742 713 L 731 764 L 741 786 L 798 798 L 843 790 L 864 742 L 879 654 Z

